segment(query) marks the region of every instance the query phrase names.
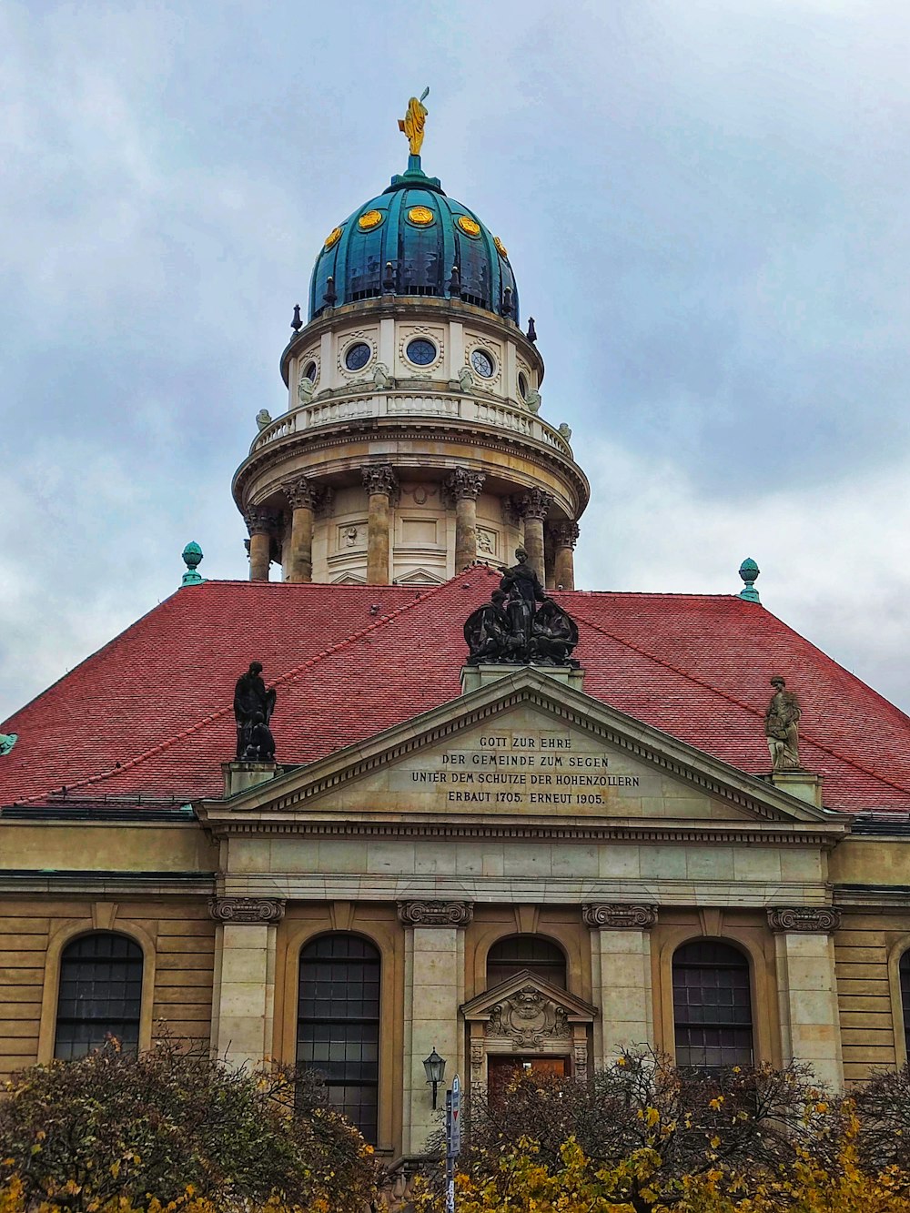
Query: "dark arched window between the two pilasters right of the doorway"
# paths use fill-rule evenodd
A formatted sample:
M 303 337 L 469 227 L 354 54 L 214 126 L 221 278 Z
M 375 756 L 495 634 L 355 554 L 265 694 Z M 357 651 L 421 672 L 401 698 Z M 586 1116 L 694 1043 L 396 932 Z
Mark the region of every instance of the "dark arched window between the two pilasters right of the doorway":
M 673 956 L 676 1064 L 752 1064 L 749 961 L 729 944 L 684 944 Z

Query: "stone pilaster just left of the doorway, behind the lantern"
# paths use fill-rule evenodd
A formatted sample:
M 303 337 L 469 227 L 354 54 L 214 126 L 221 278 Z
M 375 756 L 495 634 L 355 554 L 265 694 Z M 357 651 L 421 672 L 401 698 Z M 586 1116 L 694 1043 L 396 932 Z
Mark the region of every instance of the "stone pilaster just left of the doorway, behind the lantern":
M 404 1099 L 403 1152 L 422 1154 L 438 1129 L 432 1088 L 423 1058 L 433 1049 L 445 1058 L 445 1087 L 465 1075 L 465 1032 L 459 1008 L 465 1001 L 465 927 L 473 917 L 470 901 L 399 901 L 405 928 L 404 959 Z

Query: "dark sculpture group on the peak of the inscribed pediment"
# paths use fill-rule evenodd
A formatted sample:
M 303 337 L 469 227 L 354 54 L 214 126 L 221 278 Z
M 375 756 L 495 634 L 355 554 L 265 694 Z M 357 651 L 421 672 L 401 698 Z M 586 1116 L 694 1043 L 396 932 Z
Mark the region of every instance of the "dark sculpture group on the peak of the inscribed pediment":
M 490 602 L 465 622 L 467 664 L 578 667 L 571 657 L 579 643 L 575 620 L 547 598 L 523 547 L 516 551 L 516 560 L 511 569 L 500 570 L 502 580 Z

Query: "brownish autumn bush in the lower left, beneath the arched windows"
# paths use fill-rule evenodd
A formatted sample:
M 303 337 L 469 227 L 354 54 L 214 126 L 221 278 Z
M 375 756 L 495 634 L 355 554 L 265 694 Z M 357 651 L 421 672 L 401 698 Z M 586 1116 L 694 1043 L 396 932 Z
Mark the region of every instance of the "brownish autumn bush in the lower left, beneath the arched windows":
M 189 1191 L 220 1213 L 269 1200 L 359 1213 L 375 1189 L 371 1149 L 314 1075 L 234 1070 L 169 1040 L 138 1055 L 112 1041 L 16 1075 L 0 1143 L 0 1184 L 19 1183 L 29 1209 L 144 1208 L 147 1194 L 167 1205 Z

